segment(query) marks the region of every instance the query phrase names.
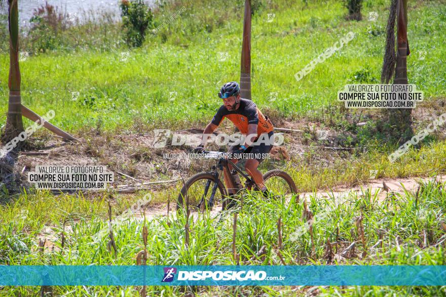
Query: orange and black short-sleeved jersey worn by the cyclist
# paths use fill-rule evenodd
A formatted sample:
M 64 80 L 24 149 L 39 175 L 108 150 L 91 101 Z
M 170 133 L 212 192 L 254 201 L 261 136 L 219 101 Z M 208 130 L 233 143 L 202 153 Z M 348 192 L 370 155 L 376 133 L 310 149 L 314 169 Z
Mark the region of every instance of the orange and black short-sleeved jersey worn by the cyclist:
M 273 131 L 271 120 L 263 115 L 251 100 L 240 99 L 240 106 L 236 110 L 228 110 L 225 105 L 221 105 L 211 123 L 218 126 L 225 117 L 232 121 L 242 134 L 248 134 L 248 124 L 258 124 L 257 137 Z

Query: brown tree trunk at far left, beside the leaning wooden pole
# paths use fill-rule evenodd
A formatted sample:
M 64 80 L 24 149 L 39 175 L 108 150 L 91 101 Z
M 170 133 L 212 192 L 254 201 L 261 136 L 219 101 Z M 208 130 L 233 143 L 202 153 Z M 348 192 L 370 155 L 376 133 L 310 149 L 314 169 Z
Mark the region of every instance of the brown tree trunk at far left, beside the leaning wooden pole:
M 8 0 L 9 4 L 9 102 L 6 119 L 5 141 L 8 142 L 23 132 L 20 98 L 19 68 L 19 12 L 18 0 Z

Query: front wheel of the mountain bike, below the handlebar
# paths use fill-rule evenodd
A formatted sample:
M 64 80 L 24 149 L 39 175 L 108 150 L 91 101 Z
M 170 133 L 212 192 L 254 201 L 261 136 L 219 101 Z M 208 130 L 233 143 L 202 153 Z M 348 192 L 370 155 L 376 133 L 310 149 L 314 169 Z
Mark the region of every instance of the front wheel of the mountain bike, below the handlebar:
M 215 183 L 215 172 L 203 172 L 194 175 L 183 185 L 181 192 L 178 195 L 176 209 L 185 209 L 186 201 L 189 199 L 189 207 L 193 209 L 194 206 L 198 206 L 200 201 L 203 201 L 205 207 L 209 207 L 209 201 L 213 190 L 215 192 L 212 197 L 213 205 L 221 203 L 222 209 L 224 209 L 224 201 L 226 189 L 223 183 L 217 179 Z

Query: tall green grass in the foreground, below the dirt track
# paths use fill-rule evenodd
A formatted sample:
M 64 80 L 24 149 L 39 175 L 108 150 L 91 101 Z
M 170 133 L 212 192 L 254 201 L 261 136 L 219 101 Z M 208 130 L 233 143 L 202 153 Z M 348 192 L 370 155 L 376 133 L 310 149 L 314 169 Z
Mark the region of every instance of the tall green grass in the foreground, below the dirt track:
M 277 220 L 281 217 L 283 222 L 283 244 L 281 254 L 287 265 L 325 265 L 323 258 L 327 240 L 339 242 L 335 252 L 342 251 L 350 242 L 360 239 L 356 228 L 356 217 L 362 214 L 365 246 L 358 243 L 356 255 L 341 262 L 344 265 L 444 265 L 444 246 L 434 247 L 434 244 L 444 237 L 444 230 L 440 223 L 444 222 L 442 209 L 446 207 L 446 193 L 444 184 L 427 182 L 422 184 L 418 197 L 415 193 L 405 192 L 389 196 L 387 200 L 378 203 L 377 197 L 370 192 L 351 194 L 345 200 L 334 198 L 316 200 L 311 198 L 311 209 L 316 220 L 312 226 L 313 241 L 309 232 L 295 237 L 296 230 L 306 230 L 302 221 L 303 203 L 285 203 L 283 199 L 263 200 L 256 193 L 244 196 L 243 208 L 238 209 L 236 246 L 240 255 L 240 262 L 250 265 L 281 265 L 281 261 L 273 249 L 277 244 Z M 36 199 L 39 198 L 39 199 Z M 48 193 L 38 192 L 31 195 L 21 195 L 15 204 L 0 207 L 0 259 L 9 265 L 133 265 L 135 256 L 142 249 L 141 228 L 143 222 L 135 220 L 124 221 L 120 226 L 114 227 L 114 236 L 117 242 L 118 254 L 107 249 L 108 237 L 97 238 L 99 230 L 107 229 L 104 213 L 104 199 L 85 201 L 83 198 L 66 203 L 64 196 L 48 196 Z M 39 200 L 39 205 L 32 201 Z M 65 202 L 65 203 L 61 203 Z M 87 205 L 90 211 L 85 211 Z M 39 208 L 38 208 L 39 207 Z M 119 207 L 119 206 L 118 206 Z M 35 211 L 31 208 L 42 209 Z M 28 209 L 28 215 L 22 216 L 23 209 Z M 101 209 L 101 210 L 100 210 Z M 327 209 L 331 211 L 327 212 Z M 22 213 L 21 213 L 22 212 Z M 323 215 L 327 212 L 327 215 Z M 61 215 L 67 219 L 71 229 L 66 230 L 66 243 L 60 245 Z M 268 214 L 268 219 L 265 219 Z M 220 218 L 221 215 L 221 218 Z M 190 245 L 184 245 L 185 217 L 179 215 L 172 217 L 158 217 L 146 221 L 149 239 L 147 241 L 148 265 L 233 265 L 232 255 L 232 214 L 223 213 L 212 217 L 209 213 L 193 213 L 190 218 Z M 59 222 L 53 227 L 59 237 L 56 239 L 57 249 L 40 253 L 35 244 L 36 232 L 40 232 L 42 217 L 52 217 L 51 220 Z M 197 218 L 198 216 L 198 218 Z M 68 218 L 67 218 L 68 217 Z M 114 215 L 114 218 L 116 215 Z M 14 219 L 13 219 L 14 218 Z M 194 222 L 195 220 L 195 222 Z M 48 222 L 45 222 L 48 223 Z M 170 226 L 167 224 L 169 223 Z M 40 226 L 40 227 L 39 227 Z M 339 228 L 339 231 L 338 231 Z M 33 230 L 29 232 L 29 230 Z M 424 235 L 426 234 L 426 244 Z M 401 250 L 395 244 L 399 238 Z M 379 239 L 383 246 L 371 248 Z M 253 255 L 266 245 L 266 257 L 261 259 Z M 313 252 L 314 247 L 314 252 Z M 359 255 L 366 250 L 365 258 Z M 339 264 L 341 264 L 339 263 Z M 336 261 L 329 264 L 337 264 Z M 121 289 L 128 290 L 130 295 L 137 295 L 137 287 L 56 287 L 58 294 L 105 295 L 106 292 L 117 294 Z M 281 288 L 283 292 L 291 294 L 289 288 Z M 322 291 L 334 293 L 339 288 L 320 288 Z M 347 287 L 346 295 L 358 295 L 367 290 L 379 290 L 383 293 L 397 294 L 404 292 L 417 292 L 421 295 L 432 295 L 444 289 L 427 287 Z M 39 287 L 5 287 L 3 292 L 17 294 L 19 291 L 35 294 Z M 180 295 L 179 287 L 148 287 L 153 294 L 158 295 L 161 290 L 165 294 Z M 200 288 L 202 293 L 217 288 Z M 266 290 L 269 295 L 277 292 L 268 288 L 234 288 L 231 290 Z

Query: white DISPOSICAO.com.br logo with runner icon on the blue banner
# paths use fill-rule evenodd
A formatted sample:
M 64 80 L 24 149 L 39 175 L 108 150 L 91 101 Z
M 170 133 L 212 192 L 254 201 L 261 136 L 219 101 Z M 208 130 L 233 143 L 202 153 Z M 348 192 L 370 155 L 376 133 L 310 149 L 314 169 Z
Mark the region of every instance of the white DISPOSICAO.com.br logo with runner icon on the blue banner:
M 173 280 L 173 275 L 176 273 L 172 268 L 164 268 L 163 282 L 170 282 Z M 166 279 L 169 277 L 168 279 Z M 166 279 L 166 280 L 164 280 Z M 262 281 L 262 280 L 284 280 L 285 276 L 267 276 L 265 271 L 241 270 L 241 271 L 178 271 L 178 281 Z

